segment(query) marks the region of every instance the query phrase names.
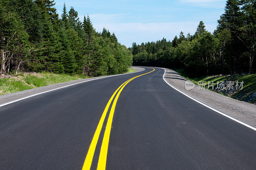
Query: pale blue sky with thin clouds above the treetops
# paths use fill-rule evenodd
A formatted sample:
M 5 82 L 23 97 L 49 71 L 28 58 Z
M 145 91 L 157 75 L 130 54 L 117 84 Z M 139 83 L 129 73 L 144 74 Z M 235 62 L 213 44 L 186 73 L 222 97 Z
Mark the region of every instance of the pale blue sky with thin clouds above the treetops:
M 121 44 L 131 47 L 162 39 L 171 40 L 183 31 L 194 34 L 203 20 L 206 29 L 213 32 L 217 19 L 224 13 L 226 0 L 55 0 L 59 15 L 63 4 L 78 12 L 82 21 L 89 14 L 93 27 L 114 32 Z

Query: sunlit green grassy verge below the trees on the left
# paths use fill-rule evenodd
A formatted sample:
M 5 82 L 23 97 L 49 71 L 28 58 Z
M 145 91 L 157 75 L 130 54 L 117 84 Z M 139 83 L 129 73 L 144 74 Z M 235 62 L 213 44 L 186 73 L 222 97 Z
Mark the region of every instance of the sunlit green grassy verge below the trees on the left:
M 84 78 L 88 77 L 52 73 L 19 73 L 16 76 L 7 75 L 0 79 L 0 95 Z

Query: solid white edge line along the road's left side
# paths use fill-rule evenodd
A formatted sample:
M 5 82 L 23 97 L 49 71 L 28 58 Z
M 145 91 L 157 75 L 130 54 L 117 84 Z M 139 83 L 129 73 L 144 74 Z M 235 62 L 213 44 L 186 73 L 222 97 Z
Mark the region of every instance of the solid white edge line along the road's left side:
M 141 67 L 139 67 L 139 68 L 141 68 Z M 145 68 L 142 68 L 142 69 L 143 69 L 143 70 L 140 70 L 140 71 L 138 71 L 138 72 L 141 72 L 141 71 L 144 71 L 144 70 L 145 70 Z M 138 73 L 138 72 L 132 72 L 132 73 Z M 124 73 L 124 74 L 131 74 L 131 73 Z M 96 79 L 92 79 L 92 80 L 103 79 L 103 78 L 107 78 L 107 77 L 113 77 L 113 76 L 124 75 L 124 74 L 110 75 L 110 76 L 100 77 L 100 78 L 96 78 Z M 78 80 L 79 80 L 79 79 L 78 79 Z M 82 81 L 82 82 L 79 82 L 79 83 L 75 83 L 75 84 L 70 84 L 70 85 L 67 85 L 67 86 L 59 87 L 59 88 L 57 88 L 57 89 L 52 89 L 52 90 L 44 91 L 44 92 L 41 92 L 41 93 L 37 93 L 37 94 L 31 95 L 31 96 L 28 96 L 28 97 L 23 97 L 23 98 L 14 100 L 14 101 L 12 101 L 12 102 L 8 102 L 8 103 L 5 103 L 5 104 L 1 104 L 0 107 L 2 107 L 2 106 L 4 106 L 4 105 L 7 105 L 7 104 L 14 103 L 14 102 L 18 102 L 18 101 L 20 101 L 20 100 L 23 100 L 23 99 L 26 99 L 26 98 L 29 98 L 29 97 L 37 96 L 37 95 L 40 95 L 40 94 L 43 94 L 43 93 L 47 93 L 47 92 L 50 92 L 50 91 L 53 91 L 53 90 L 62 89 L 62 88 L 68 87 L 68 86 L 73 86 L 73 85 L 76 85 L 76 84 L 80 84 L 80 83 L 84 83 L 84 82 L 92 81 L 92 80 L 86 80 L 86 81 Z

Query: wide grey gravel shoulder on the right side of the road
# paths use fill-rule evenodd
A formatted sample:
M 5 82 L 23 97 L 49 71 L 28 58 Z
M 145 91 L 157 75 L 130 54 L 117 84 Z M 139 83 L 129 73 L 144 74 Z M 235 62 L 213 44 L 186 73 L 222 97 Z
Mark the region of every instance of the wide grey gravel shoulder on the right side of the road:
M 165 80 L 172 84 L 180 91 L 187 95 L 196 98 L 204 104 L 211 106 L 212 108 L 227 114 L 237 120 L 245 122 L 253 127 L 256 127 L 256 105 L 239 101 L 230 97 L 223 96 L 219 93 L 213 92 L 207 89 L 199 89 L 195 85 L 193 89 L 186 90 L 185 82 L 186 78 L 180 76 L 179 73 L 167 69 L 165 74 Z

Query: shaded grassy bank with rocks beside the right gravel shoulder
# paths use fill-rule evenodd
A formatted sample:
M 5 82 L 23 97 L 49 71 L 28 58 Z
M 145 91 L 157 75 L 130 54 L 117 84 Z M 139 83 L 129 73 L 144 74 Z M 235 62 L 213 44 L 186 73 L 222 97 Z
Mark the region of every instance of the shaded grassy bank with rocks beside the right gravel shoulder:
M 196 77 L 191 78 L 189 77 L 183 69 L 172 69 L 176 72 L 178 72 L 181 76 L 187 78 L 188 80 L 192 81 L 196 85 L 199 85 L 198 82 L 205 82 L 205 87 L 208 87 L 208 83 L 214 83 L 214 89 L 212 91 L 215 91 L 217 93 L 220 93 L 222 95 L 232 97 L 237 100 L 246 101 L 249 103 L 256 104 L 256 74 L 235 74 L 235 75 L 215 75 L 215 76 L 204 76 L 204 77 Z M 225 84 L 227 81 L 238 81 L 238 82 L 244 82 L 243 83 L 243 89 L 222 89 L 222 90 L 216 90 L 217 82 L 224 81 Z

